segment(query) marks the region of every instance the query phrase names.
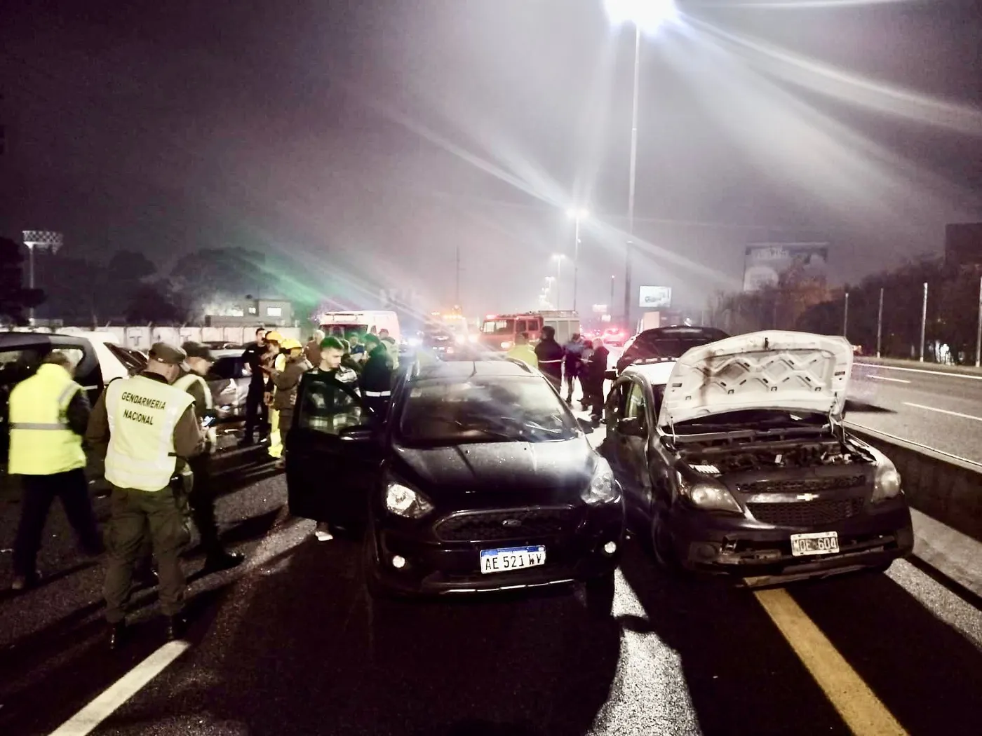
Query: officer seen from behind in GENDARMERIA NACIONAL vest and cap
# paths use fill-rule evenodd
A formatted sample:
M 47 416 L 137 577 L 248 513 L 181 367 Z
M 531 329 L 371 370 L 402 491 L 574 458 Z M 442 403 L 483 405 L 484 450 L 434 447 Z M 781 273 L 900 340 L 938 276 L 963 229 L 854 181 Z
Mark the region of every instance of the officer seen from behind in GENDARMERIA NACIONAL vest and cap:
M 85 432 L 93 450 L 105 457 L 106 480 L 112 486 L 104 592 L 109 642 L 114 649 L 125 636 L 134 566 L 147 533 L 157 560 L 167 636 L 176 639 L 184 632 L 185 577 L 180 554 L 190 534 L 187 500 L 175 478 L 187 458 L 204 447 L 194 399 L 171 386 L 187 357 L 180 347 L 155 343 L 142 373 L 106 387 Z

